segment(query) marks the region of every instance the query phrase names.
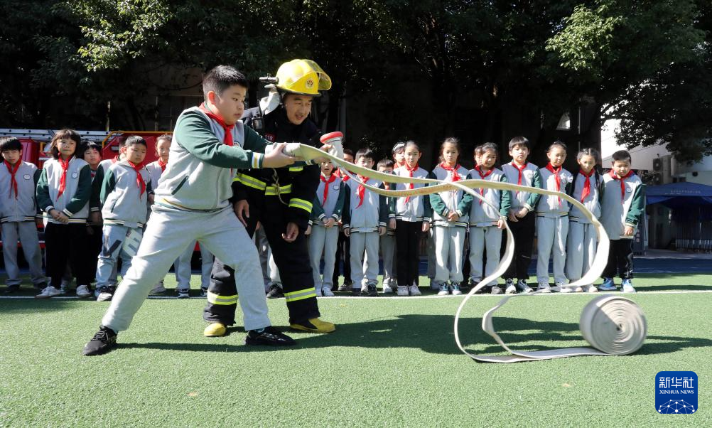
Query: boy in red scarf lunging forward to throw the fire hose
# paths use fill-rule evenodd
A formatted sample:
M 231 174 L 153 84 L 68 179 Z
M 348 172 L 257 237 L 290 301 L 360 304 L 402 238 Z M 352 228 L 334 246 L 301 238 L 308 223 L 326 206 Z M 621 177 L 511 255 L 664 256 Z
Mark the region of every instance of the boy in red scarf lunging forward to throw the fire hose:
M 295 344 L 271 326 L 257 249 L 229 202 L 236 169 L 277 168 L 295 162 L 283 153 L 284 143 L 269 145 L 239 121 L 246 93 L 242 73 L 217 66 L 203 79 L 204 104 L 179 116 L 171 161 L 155 191 L 156 204 L 141 245 L 84 355 L 115 347 L 117 332 L 128 328 L 152 286 L 195 239 L 236 271 L 246 344 Z

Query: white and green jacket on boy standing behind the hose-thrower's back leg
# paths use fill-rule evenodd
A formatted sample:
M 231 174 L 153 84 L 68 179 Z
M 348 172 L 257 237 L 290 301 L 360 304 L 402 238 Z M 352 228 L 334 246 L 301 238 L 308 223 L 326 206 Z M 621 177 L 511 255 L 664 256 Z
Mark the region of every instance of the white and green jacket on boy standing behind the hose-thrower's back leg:
M 148 195 L 152 193 L 151 174 L 139 170 L 146 188 L 141 192 L 137 173 L 126 160 L 111 165 L 101 187 L 101 215 L 104 224 L 130 228 L 143 227 L 148 215 Z

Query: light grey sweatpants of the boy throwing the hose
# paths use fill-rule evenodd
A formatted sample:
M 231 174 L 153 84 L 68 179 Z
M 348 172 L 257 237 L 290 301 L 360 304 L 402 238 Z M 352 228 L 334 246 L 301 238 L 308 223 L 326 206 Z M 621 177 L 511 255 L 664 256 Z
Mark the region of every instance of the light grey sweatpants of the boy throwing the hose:
M 151 288 L 193 241 L 235 269 L 245 330 L 271 325 L 257 249 L 231 207 L 188 212 L 155 205 L 131 268 L 116 289 L 102 325 L 126 330 Z

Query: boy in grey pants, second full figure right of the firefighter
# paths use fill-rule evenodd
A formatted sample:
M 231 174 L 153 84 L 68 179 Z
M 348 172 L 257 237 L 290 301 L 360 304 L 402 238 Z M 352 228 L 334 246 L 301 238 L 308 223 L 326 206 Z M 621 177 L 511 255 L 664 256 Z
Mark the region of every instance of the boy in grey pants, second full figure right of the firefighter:
M 372 169 L 375 154 L 370 149 L 356 152 L 356 165 Z M 370 177 L 357 175 L 358 179 L 374 187 L 384 189 L 384 183 Z M 368 296 L 378 296 L 378 239 L 386 233 L 390 212 L 387 198 L 374 192 L 366 192 L 363 184 L 347 182 L 344 202 L 344 234 L 351 241 L 352 296 L 360 296 L 362 289 Z M 364 254 L 366 260 L 364 261 Z

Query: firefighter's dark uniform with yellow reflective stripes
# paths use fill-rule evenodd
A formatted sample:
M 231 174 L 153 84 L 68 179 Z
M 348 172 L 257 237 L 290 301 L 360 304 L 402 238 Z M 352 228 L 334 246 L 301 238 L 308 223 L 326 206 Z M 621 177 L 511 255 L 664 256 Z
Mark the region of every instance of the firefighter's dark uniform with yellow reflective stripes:
M 258 114 L 258 108 L 246 110 L 242 120 L 246 125 L 253 125 L 253 119 Z M 320 132 L 310 118 L 301 125 L 293 125 L 280 105 L 264 115 L 262 120 L 263 130 L 260 132 L 266 140 L 320 146 Z M 258 221 L 264 228 L 279 269 L 290 323 L 302 323 L 320 316 L 304 234 L 319 185 L 319 174 L 319 165 L 248 169 L 237 174 L 232 186 L 232 202 L 243 199 L 248 202 L 250 216 L 245 219 L 248 234 L 253 236 Z M 293 242 L 282 238 L 289 222 L 294 222 L 299 228 L 297 239 Z M 234 271 L 219 259 L 215 259 L 208 291 L 209 296 L 213 293 L 216 297 L 209 297 L 203 318 L 211 323 L 233 325 L 237 306 Z M 232 303 L 225 304 L 228 302 Z

